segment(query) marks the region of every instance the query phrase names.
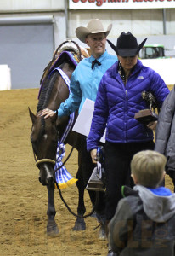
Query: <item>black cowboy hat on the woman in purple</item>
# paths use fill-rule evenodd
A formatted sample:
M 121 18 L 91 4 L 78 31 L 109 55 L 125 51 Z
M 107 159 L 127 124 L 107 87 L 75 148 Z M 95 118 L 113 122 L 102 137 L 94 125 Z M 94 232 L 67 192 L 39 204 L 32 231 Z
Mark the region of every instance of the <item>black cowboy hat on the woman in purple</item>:
M 137 39 L 132 35 L 131 32 L 121 32 L 119 38 L 117 38 L 116 46 L 107 40 L 110 47 L 116 51 L 117 55 L 121 57 L 131 57 L 138 54 L 139 50 L 142 49 L 147 38 L 141 44 L 138 44 Z

